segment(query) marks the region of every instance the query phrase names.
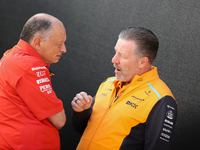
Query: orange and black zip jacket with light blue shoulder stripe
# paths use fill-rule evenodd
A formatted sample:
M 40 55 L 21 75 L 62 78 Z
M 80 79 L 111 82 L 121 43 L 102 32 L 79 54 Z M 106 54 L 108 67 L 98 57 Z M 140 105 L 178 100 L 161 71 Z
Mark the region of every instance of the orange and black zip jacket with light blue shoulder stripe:
M 169 150 L 177 103 L 157 68 L 121 84 L 112 77 L 100 85 L 91 116 L 74 112 L 79 131 L 89 119 L 77 150 Z

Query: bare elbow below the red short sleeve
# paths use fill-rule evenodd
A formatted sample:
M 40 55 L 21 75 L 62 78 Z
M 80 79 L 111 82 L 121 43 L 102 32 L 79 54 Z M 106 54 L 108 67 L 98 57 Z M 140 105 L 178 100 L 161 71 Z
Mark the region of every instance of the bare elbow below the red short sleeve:
M 66 122 L 66 115 L 65 115 L 65 110 L 63 109 L 61 112 L 52 115 L 47 118 L 56 129 L 60 130 Z

